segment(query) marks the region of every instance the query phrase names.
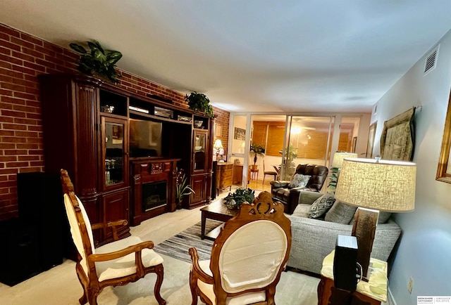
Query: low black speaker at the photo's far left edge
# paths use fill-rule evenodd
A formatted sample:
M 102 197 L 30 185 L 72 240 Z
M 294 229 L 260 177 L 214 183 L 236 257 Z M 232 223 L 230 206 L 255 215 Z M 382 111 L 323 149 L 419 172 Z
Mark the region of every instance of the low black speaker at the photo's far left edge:
M 0 282 L 9 286 L 41 272 L 37 227 L 18 219 L 0 222 Z

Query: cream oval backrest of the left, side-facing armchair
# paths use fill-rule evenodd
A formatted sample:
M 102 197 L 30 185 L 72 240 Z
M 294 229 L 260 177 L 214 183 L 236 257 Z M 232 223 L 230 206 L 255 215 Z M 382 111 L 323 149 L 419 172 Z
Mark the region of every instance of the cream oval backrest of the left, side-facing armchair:
M 91 223 L 85 207 L 75 195 L 73 183 L 70 181 L 68 172 L 65 169 L 61 169 L 61 184 L 63 186 L 64 205 L 70 225 L 70 233 L 81 257 L 80 265 L 85 274 L 88 275 L 89 266 L 86 258 L 88 255 L 94 254 L 95 251 Z

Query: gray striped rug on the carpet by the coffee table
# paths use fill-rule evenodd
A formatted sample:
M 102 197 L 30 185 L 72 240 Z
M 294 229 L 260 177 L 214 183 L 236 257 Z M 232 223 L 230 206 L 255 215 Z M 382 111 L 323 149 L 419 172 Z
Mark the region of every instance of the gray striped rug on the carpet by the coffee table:
M 217 226 L 221 225 L 222 221 L 214 221 L 206 219 L 205 233 L 210 232 Z M 181 261 L 187 261 L 191 263 L 191 257 L 188 253 L 190 247 L 197 249 L 199 260 L 210 259 L 211 247 L 213 246 L 213 240 L 201 240 L 200 238 L 200 221 L 194 226 L 187 228 L 185 231 L 174 235 L 173 237 L 165 240 L 154 247 L 156 253 L 165 254 L 168 257 L 174 259 L 180 259 Z

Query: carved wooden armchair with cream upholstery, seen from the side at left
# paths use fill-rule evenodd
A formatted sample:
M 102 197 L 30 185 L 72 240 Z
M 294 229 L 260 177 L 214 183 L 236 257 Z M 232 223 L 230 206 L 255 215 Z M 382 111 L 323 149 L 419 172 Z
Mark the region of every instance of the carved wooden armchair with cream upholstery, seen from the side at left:
M 74 193 L 68 172 L 61 169 L 64 205 L 70 224 L 73 242 L 78 250 L 75 270 L 83 287 L 80 304 L 97 304 L 97 296 L 106 286 L 125 285 L 144 278 L 147 273 L 156 273 L 154 295 L 160 305 L 166 301 L 160 295 L 163 283 L 163 258 L 152 248 L 152 241 L 142 242 L 140 238 L 130 236 L 117 240 L 115 226 L 127 221 L 93 224 L 89 223 L 85 207 Z M 94 249 L 92 229 L 112 228 L 116 241 Z

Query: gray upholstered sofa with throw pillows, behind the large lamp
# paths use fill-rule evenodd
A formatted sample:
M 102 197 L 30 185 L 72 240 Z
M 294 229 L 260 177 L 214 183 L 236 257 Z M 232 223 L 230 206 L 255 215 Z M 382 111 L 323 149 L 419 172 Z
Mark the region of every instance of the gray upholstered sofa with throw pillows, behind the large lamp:
M 288 266 L 317 274 L 321 273 L 324 257 L 335 249 L 337 235 L 351 235 L 352 215 L 354 214 L 352 212 L 354 207 L 345 205 L 351 210 L 348 211 L 351 216 L 343 216 L 342 220 L 349 221 L 350 224 L 309 218 L 308 212 L 311 204 L 322 195 L 324 194 L 310 191 L 301 192 L 299 205 L 295 212 L 292 215 L 287 215 L 291 221 L 292 229 L 292 245 Z M 327 213 L 332 214 L 333 209 L 339 207 L 338 205 L 344 204 L 336 200 Z M 330 215 L 329 218 L 332 216 Z M 350 217 L 350 219 L 347 219 L 347 217 Z M 388 260 L 402 231 L 400 226 L 391 219 L 390 214 L 381 213 L 379 220 L 383 221 L 385 217 L 388 220 L 385 223 L 378 223 L 376 227 L 373 252 L 371 253 L 371 257 L 383 261 Z M 325 218 L 328 219 L 328 216 L 325 216 Z

